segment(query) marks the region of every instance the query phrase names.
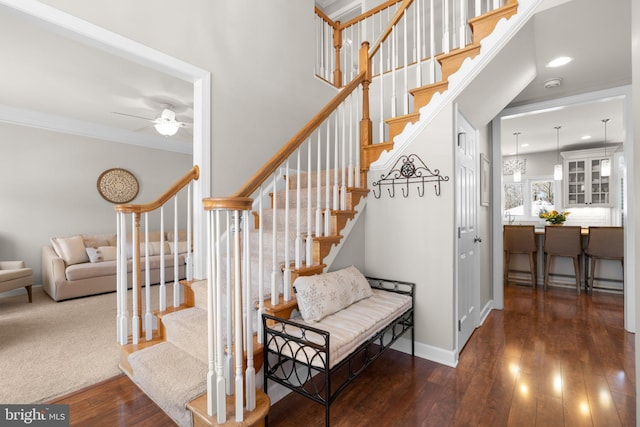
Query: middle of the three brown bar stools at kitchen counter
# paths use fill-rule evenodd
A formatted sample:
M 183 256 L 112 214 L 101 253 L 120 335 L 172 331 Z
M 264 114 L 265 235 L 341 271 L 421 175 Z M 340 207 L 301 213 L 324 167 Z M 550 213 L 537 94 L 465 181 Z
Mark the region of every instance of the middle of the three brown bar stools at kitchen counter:
M 576 272 L 576 290 L 580 295 L 580 259 L 582 255 L 582 236 L 580 226 L 547 225 L 544 228 L 544 252 L 547 254 L 544 266 L 544 289 L 549 286 L 549 268 L 552 257 L 573 259 Z

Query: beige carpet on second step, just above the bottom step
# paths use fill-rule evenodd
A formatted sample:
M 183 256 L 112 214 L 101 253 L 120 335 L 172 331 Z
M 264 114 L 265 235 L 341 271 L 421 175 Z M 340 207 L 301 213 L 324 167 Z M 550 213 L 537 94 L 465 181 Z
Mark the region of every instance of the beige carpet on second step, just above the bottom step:
M 207 311 L 201 308 L 179 310 L 162 317 L 167 341 L 185 353 L 207 363 Z

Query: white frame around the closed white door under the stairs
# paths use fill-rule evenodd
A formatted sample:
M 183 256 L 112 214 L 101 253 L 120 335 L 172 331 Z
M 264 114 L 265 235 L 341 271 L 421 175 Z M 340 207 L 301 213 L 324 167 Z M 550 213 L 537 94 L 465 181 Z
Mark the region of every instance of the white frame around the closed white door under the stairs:
M 471 123 L 471 121 L 469 121 L 464 114 L 460 111 L 459 109 L 459 105 L 456 103 L 454 104 L 454 144 L 453 144 L 453 149 L 454 149 L 454 169 L 457 173 L 458 170 L 458 155 L 455 152 L 455 150 L 457 150 L 457 140 L 458 140 L 458 132 L 460 129 L 460 122 L 464 121 L 466 122 L 469 127 L 471 129 L 473 129 L 474 132 L 474 140 L 475 140 L 475 181 L 476 181 L 476 190 L 474 192 L 474 200 L 475 200 L 475 205 L 476 205 L 476 209 L 475 209 L 475 224 L 476 224 L 476 232 L 478 231 L 478 227 L 479 227 L 479 222 L 480 222 L 480 216 L 479 216 L 479 209 L 480 209 L 480 142 L 479 142 L 479 136 L 480 136 L 480 132 L 479 130 L 473 126 L 473 124 Z M 457 196 L 455 197 L 455 200 L 457 200 Z M 458 206 L 456 204 L 455 209 L 458 209 Z M 456 220 L 455 222 L 455 227 L 457 229 L 458 227 L 458 221 Z M 460 331 L 458 328 L 458 321 L 460 319 L 460 313 L 459 313 L 459 295 L 460 295 L 460 283 L 459 283 L 459 263 L 458 263 L 458 250 L 459 250 L 459 239 L 456 238 L 455 239 L 455 245 L 454 245 L 454 258 L 455 258 L 455 298 L 454 298 L 454 312 L 455 312 L 455 316 L 454 316 L 454 342 L 455 342 L 455 359 L 456 359 L 456 363 L 457 360 L 460 356 L 460 351 L 462 350 L 462 347 L 464 347 L 464 344 L 466 344 L 466 342 L 464 344 L 462 344 L 462 346 L 460 345 Z M 475 310 L 473 311 L 473 315 L 471 317 L 471 319 L 469 320 L 471 322 L 471 324 L 474 327 L 474 330 L 476 328 L 478 328 L 480 326 L 480 248 L 478 247 L 477 250 L 478 254 L 474 259 L 474 270 L 476 273 L 478 273 L 476 276 L 478 277 L 478 286 L 473 290 L 473 292 L 471 292 L 471 295 L 469 296 L 469 298 L 471 299 L 471 304 L 475 307 Z M 473 332 L 471 333 L 473 334 Z

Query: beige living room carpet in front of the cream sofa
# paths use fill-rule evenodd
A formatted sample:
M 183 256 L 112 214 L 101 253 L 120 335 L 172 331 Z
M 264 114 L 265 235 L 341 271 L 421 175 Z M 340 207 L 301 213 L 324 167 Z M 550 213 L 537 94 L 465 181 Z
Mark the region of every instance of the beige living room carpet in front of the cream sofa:
M 32 304 L 0 298 L 0 403 L 40 403 L 119 374 L 115 319 L 115 293 L 56 303 L 34 287 Z

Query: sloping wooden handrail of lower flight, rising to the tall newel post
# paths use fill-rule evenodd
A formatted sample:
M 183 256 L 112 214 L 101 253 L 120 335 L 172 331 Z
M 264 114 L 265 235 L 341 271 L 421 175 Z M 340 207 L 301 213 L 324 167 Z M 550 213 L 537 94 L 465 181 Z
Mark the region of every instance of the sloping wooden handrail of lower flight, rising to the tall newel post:
M 254 191 L 273 174 L 278 166 L 284 162 L 314 130 L 316 130 L 338 106 L 347 99 L 359 85 L 364 81 L 365 72 L 359 73 L 349 84 L 344 86 L 340 92 L 327 105 L 320 110 L 309 122 L 304 125 L 285 145 L 282 147 L 258 172 L 256 172 L 233 197 L 250 197 Z

